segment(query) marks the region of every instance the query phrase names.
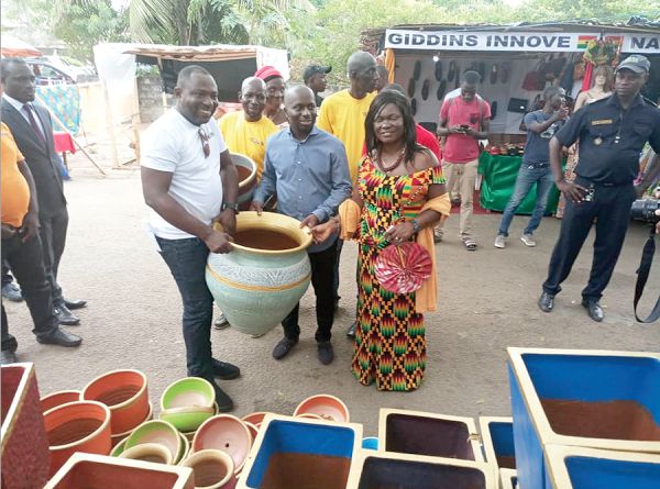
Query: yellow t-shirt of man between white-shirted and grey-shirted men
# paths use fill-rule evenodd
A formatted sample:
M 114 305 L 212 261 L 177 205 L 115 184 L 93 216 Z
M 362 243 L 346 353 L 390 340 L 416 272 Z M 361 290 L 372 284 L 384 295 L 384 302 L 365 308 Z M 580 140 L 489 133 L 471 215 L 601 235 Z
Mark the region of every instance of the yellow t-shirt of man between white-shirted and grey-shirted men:
M 262 116 L 256 122 L 248 122 L 242 110 L 222 115 L 218 124 L 229 152 L 240 153 L 254 160 L 256 180 L 260 181 L 264 173 L 266 140 L 279 131 L 279 127 L 266 116 Z

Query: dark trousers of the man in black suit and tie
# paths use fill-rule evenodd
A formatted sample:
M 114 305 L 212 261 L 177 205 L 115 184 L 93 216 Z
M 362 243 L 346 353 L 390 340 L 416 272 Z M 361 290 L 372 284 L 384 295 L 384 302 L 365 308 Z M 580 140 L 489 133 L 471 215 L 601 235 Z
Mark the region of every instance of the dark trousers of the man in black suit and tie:
M 44 249 L 46 277 L 53 289 L 53 305 L 58 307 L 64 303 L 62 287 L 57 284 L 57 270 L 66 245 L 68 212 L 66 208 L 62 208 L 54 215 L 40 215 L 38 221 L 41 223 L 40 236 Z

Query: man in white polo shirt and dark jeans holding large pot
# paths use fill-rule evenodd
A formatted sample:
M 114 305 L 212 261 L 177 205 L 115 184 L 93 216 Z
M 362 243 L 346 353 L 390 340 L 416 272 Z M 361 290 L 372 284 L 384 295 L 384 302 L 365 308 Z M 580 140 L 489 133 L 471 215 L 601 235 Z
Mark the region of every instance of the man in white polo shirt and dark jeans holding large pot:
M 234 365 L 211 356 L 213 298 L 205 280 L 209 251 L 229 253 L 235 231 L 238 171 L 211 115 L 218 87 L 200 66 L 179 71 L 176 107 L 143 137 L 142 190 L 150 225 L 161 256 L 169 267 L 184 303 L 184 341 L 188 375 L 216 389 L 220 411 L 231 411 L 231 398 L 213 378 L 240 376 Z M 226 232 L 213 229 L 220 222 Z

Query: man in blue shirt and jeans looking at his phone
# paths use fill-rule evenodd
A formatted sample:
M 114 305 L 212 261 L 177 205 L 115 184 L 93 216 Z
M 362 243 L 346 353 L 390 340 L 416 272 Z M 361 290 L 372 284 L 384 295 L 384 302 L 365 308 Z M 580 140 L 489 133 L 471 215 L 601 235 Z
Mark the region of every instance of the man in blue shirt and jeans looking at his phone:
M 537 186 L 536 207 L 520 240 L 527 246 L 536 246 L 534 232 L 541 223 L 548 196 L 553 185 L 552 169 L 550 168 L 550 138 L 569 116 L 563 88 L 548 87 L 543 92 L 543 100 L 546 104 L 542 110 L 536 110 L 525 115 L 525 126 L 527 127 L 525 155 L 518 170 L 514 193 L 502 214 L 499 231 L 495 237 L 496 248 L 506 246 L 508 229 L 514 220 L 514 214 L 535 184 Z

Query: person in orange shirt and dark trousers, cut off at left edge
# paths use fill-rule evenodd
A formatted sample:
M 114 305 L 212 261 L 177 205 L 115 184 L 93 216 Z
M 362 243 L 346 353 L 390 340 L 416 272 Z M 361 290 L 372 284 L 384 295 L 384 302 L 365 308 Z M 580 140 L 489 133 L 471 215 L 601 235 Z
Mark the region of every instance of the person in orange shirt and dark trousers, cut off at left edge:
M 7 259 L 34 323 L 38 343 L 78 346 L 80 337 L 59 329 L 53 309 L 51 284 L 46 280 L 43 249 L 38 237 L 38 204 L 36 190 L 25 158 L 16 147 L 11 131 L 2 122 L 2 259 Z M 14 363 L 18 343 L 9 334 L 2 304 L 2 365 Z

